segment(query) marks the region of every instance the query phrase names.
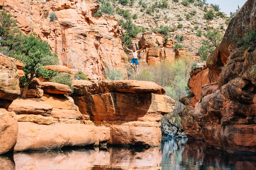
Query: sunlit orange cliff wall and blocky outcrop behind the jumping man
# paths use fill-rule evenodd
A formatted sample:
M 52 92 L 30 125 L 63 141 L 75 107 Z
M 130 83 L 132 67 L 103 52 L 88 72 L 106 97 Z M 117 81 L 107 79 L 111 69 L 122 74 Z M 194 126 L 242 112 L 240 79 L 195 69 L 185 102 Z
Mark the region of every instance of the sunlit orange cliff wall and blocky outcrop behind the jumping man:
M 131 56 L 127 56 L 121 43 L 124 30 L 115 16 L 93 16 L 98 10 L 96 0 L 2 0 L 0 8 L 9 12 L 18 21 L 25 34 L 36 33 L 50 44 L 62 65 L 81 68 L 90 80 L 104 79 L 106 67 L 121 68 L 127 73 Z M 54 12 L 58 18 L 50 21 Z M 173 42 L 163 46 L 164 36 L 144 33 L 133 40 L 133 47 L 146 50 L 140 52 L 140 63 L 155 65 L 166 59 L 173 62 L 175 56 L 186 54 L 186 50 L 175 51 Z M 177 54 L 176 54 L 177 53 Z

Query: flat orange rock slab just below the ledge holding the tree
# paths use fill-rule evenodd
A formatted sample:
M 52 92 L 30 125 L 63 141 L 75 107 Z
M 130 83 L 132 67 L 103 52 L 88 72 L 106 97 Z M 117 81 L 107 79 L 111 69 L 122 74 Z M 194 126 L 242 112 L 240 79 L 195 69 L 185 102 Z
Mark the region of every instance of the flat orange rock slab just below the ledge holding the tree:
M 40 114 L 50 116 L 52 106 L 41 99 L 16 99 L 8 108 L 16 114 Z

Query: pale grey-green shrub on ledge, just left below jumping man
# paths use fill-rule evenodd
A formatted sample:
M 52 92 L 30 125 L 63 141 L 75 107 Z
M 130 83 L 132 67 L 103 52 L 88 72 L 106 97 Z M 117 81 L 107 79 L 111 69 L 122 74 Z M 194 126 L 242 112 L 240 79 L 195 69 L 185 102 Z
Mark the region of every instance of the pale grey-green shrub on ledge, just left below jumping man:
M 121 69 L 116 69 L 111 66 L 106 66 L 104 70 L 104 76 L 107 80 L 123 80 L 125 79 L 125 73 Z

